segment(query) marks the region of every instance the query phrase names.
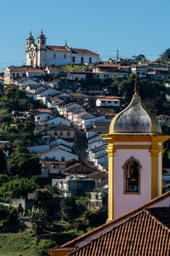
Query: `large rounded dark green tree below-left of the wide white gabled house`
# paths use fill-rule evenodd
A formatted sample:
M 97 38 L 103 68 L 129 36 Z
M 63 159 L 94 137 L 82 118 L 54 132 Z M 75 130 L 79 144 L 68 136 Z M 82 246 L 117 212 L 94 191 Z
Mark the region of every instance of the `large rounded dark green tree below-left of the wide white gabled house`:
M 36 154 L 18 153 L 8 160 L 8 174 L 12 177 L 32 177 L 41 174 L 41 166 Z

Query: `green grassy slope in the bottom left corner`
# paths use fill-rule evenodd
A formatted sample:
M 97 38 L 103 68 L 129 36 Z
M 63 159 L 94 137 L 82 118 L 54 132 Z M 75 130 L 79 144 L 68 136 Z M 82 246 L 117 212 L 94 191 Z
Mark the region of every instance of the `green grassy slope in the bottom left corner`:
M 0 256 L 40 256 L 30 230 L 0 234 Z

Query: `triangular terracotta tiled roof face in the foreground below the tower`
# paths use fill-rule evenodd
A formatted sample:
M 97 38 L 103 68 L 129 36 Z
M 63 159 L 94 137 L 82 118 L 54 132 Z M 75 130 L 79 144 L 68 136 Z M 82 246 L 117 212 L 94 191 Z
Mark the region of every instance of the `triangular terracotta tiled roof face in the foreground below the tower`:
M 157 220 L 153 212 L 143 210 L 68 255 L 163 256 L 169 255 L 169 250 L 169 228 Z

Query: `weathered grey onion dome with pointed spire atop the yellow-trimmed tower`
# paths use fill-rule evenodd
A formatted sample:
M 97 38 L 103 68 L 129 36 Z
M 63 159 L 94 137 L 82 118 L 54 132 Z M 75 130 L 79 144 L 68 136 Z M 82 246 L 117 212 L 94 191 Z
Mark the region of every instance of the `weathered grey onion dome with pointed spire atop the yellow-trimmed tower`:
M 110 133 L 161 133 L 160 123 L 141 101 L 138 78 L 134 91 L 133 99 L 127 108 L 112 119 Z

